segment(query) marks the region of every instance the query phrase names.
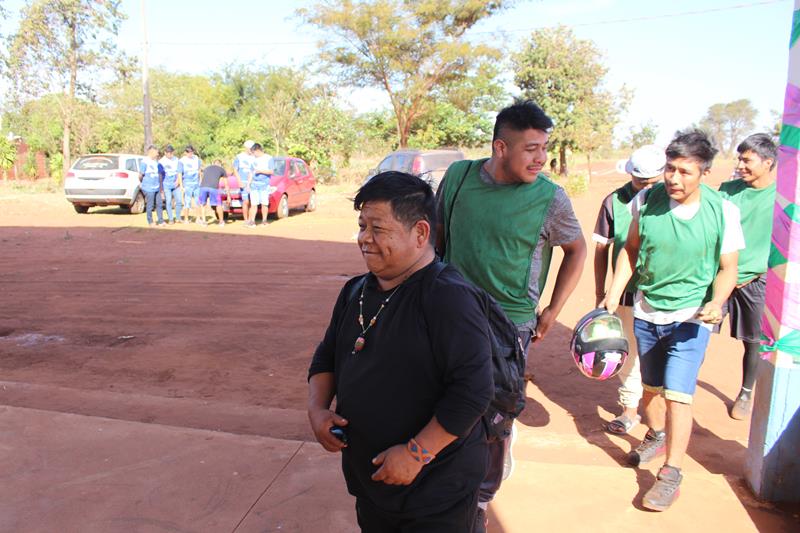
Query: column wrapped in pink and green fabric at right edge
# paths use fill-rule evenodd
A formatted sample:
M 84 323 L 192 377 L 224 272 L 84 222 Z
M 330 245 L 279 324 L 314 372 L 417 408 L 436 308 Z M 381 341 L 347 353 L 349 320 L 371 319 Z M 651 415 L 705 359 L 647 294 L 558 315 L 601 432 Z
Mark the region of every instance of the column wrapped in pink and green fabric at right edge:
M 800 0 L 795 0 L 789 82 L 767 272 L 762 357 L 746 475 L 768 501 L 800 502 Z

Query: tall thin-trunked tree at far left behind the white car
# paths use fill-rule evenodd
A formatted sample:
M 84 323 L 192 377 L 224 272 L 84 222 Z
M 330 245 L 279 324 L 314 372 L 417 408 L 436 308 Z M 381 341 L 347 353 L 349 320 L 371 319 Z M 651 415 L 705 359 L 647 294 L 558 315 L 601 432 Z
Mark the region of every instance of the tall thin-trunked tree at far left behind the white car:
M 64 172 L 71 162 L 78 96 L 94 97 L 92 80 L 115 59 L 120 0 L 31 0 L 9 38 L 8 77 L 17 102 L 60 93 Z

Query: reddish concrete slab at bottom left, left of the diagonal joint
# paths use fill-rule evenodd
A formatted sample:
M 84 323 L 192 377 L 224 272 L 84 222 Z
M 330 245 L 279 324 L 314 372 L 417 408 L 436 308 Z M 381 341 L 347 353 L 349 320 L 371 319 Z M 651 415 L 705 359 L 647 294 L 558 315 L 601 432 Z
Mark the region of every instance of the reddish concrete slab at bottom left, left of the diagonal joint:
M 233 531 L 301 442 L 0 407 L 0 531 Z

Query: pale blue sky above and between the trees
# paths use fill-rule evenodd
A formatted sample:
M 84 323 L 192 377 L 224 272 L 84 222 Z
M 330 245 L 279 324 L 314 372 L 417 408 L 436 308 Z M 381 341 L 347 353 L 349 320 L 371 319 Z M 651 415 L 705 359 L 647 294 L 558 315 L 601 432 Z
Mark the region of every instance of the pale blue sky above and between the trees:
M 302 66 L 314 58 L 320 37 L 295 10 L 309 1 L 146 1 L 150 64 L 193 74 L 229 63 Z M 23 2 L 4 5 L 12 20 Z M 119 45 L 141 50 L 140 0 L 123 0 L 128 20 Z M 787 79 L 790 0 L 529 0 L 474 28 L 472 39 L 504 42 L 509 49 L 537 28 L 564 24 L 591 39 L 609 67 L 607 85 L 633 89 L 618 133 L 652 121 L 659 141 L 697 122 L 718 102 L 749 98 L 759 110 L 757 129 L 782 110 Z M 361 110 L 386 105 L 378 91 L 350 97 Z

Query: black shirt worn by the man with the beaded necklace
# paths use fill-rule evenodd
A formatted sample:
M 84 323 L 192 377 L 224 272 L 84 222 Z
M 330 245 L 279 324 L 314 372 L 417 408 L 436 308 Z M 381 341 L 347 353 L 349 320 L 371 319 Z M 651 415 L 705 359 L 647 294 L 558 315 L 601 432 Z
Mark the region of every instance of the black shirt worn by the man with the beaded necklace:
M 429 270 L 404 282 L 355 354 L 361 328 L 358 294 L 350 293 L 361 276 L 348 281 L 309 368 L 309 377 L 334 373 L 336 411 L 349 422 L 349 445 L 342 451 L 348 490 L 399 516 L 452 506 L 477 490 L 487 461 L 479 422 L 493 394 L 486 315 L 477 291 L 455 268 L 445 268 L 435 280 L 425 278 Z M 363 316 L 369 323 L 390 291 L 381 291 L 372 274 L 364 287 Z M 377 470 L 372 458 L 408 442 L 434 414 L 459 438 L 411 485 L 372 481 Z

